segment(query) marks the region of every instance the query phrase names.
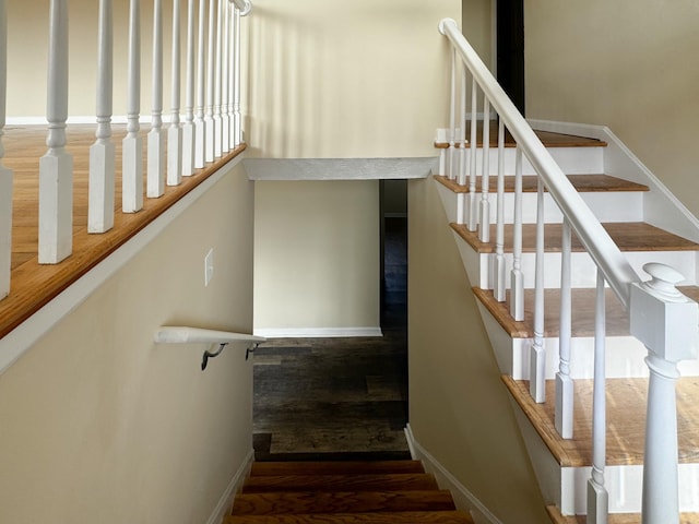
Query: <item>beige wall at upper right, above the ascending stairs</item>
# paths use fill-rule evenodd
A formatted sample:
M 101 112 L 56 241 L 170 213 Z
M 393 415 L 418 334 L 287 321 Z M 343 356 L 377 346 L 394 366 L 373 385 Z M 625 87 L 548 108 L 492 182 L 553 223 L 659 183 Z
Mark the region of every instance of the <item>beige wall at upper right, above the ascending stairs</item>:
M 699 214 L 699 3 L 525 2 L 528 117 L 608 126 Z

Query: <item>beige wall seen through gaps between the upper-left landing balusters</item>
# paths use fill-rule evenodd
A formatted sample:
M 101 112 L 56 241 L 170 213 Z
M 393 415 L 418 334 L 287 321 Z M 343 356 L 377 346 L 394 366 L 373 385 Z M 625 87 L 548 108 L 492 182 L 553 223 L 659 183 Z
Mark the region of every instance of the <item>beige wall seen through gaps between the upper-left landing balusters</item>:
M 182 2 L 186 3 L 186 2 Z M 97 16 L 99 2 L 69 0 L 70 85 L 69 115 L 95 115 L 97 67 Z M 8 116 L 46 116 L 46 64 L 48 55 L 49 2 L 8 2 Z M 141 2 L 142 49 L 141 114 L 151 115 L 153 2 Z M 170 41 L 173 2 L 163 2 L 164 16 L 164 111 L 170 105 Z M 129 2 L 114 2 L 114 115 L 127 114 Z M 183 23 L 183 22 L 182 22 Z M 182 31 L 182 52 L 185 35 Z M 182 55 L 183 56 L 183 55 Z M 182 72 L 185 70 L 182 69 Z M 182 88 L 182 95 L 185 91 Z M 183 99 L 182 99 L 183 102 Z

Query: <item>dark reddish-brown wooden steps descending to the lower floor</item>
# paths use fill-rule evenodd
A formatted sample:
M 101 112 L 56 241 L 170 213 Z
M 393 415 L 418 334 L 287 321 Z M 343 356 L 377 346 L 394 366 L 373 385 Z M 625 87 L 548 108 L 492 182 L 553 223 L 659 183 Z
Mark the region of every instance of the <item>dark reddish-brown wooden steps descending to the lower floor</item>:
M 473 524 L 417 461 L 256 462 L 225 524 Z

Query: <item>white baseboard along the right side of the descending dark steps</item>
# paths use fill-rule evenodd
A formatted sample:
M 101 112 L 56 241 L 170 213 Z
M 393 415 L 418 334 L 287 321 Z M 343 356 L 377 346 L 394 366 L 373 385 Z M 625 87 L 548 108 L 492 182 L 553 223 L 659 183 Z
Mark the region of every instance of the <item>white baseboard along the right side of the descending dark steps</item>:
M 407 446 L 411 450 L 413 460 L 422 461 L 425 469 L 435 475 L 439 487 L 451 491 L 457 509 L 471 512 L 476 522 L 502 524 L 502 521 L 495 516 L 475 495 L 469 491 L 464 485 L 415 440 L 410 424 L 405 427 L 405 438 L 407 439 Z

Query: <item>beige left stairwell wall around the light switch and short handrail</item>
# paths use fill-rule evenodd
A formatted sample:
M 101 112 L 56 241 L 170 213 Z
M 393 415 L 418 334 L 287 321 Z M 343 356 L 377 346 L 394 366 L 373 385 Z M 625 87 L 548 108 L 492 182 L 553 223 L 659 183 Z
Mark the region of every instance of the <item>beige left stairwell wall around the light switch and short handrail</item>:
M 252 193 L 225 176 L 0 376 L 0 522 L 206 522 L 252 448 L 251 365 L 152 341 L 250 332 Z

